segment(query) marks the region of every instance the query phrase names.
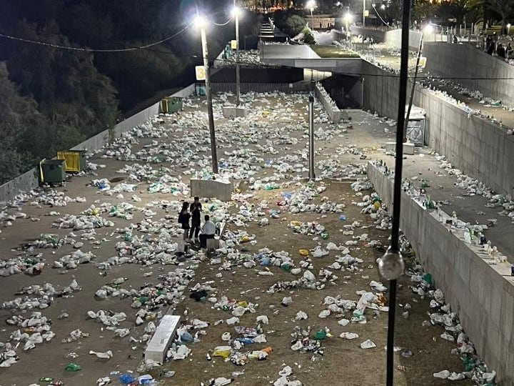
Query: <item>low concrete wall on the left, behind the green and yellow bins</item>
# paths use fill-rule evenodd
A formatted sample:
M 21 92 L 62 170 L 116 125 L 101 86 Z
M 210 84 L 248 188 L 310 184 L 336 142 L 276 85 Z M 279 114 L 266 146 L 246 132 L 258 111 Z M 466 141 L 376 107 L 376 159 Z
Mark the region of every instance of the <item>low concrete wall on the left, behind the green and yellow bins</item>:
M 172 97 L 188 97 L 189 95 L 194 93 L 194 84 L 190 84 L 189 86 L 177 91 Z M 86 139 L 86 141 L 81 144 L 72 147 L 71 150 L 98 150 L 104 147 L 105 144 L 109 143 L 111 136 L 114 134 L 114 137 L 121 136 L 122 133 L 127 132 L 134 127 L 142 124 L 148 119 L 155 117 L 159 114 L 161 102 L 156 102 L 151 107 L 144 109 L 137 114 L 134 114 L 132 117 L 125 119 L 124 121 L 116 124 L 114 130 L 111 134 L 109 130 L 105 130 L 99 134 L 96 134 L 94 137 Z M 21 174 L 21 176 L 16 177 L 15 179 L 11 179 L 11 181 L 6 182 L 5 184 L 0 186 L 0 202 L 9 201 L 13 199 L 16 194 L 19 192 L 26 192 L 28 190 L 34 189 L 38 186 L 38 168 L 35 167 L 30 169 L 28 172 Z

